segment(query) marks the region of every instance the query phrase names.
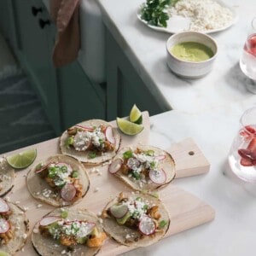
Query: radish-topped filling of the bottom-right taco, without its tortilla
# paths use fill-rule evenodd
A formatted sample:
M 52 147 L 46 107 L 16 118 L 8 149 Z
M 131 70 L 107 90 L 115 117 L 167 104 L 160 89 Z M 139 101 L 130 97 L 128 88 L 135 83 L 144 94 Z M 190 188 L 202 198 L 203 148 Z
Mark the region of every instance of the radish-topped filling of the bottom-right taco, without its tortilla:
M 117 201 L 102 212 L 102 218 L 113 218 L 116 224 L 131 230 L 124 237 L 125 244 L 139 243 L 145 236 L 163 236 L 169 226 L 169 218 L 162 216 L 160 207 L 143 195 L 120 193 Z

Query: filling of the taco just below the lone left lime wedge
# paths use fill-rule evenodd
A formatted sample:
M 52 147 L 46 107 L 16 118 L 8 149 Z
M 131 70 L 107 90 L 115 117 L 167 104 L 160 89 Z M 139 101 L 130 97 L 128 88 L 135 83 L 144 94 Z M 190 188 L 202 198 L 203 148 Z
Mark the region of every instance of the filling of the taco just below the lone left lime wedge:
M 55 193 L 61 195 L 63 201 L 77 201 L 82 198 L 83 186 L 79 180 L 79 172 L 67 163 L 55 161 L 44 166 L 39 164 L 35 172 Z

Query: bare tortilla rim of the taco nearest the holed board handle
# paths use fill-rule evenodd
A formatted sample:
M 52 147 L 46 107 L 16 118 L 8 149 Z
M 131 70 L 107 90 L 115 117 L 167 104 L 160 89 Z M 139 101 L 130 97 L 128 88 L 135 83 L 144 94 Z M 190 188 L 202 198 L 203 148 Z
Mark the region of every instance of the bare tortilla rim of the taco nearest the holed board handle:
M 148 145 L 137 145 L 137 146 L 135 145 L 135 146 L 125 147 L 119 151 L 119 154 L 117 154 L 113 158 L 113 161 L 118 158 L 124 159 L 123 153 L 125 151 L 132 150 L 134 152 L 137 148 L 142 149 L 143 151 L 154 150 L 154 153 L 156 155 L 163 154 L 163 153 L 166 154 L 166 158 L 164 160 L 159 161 L 159 169 L 163 169 L 166 172 L 166 183 L 163 183 L 163 184 L 143 183 L 143 184 L 141 184 L 141 183 L 139 183 L 139 181 L 128 177 L 127 175 L 123 174 L 121 171 L 115 172 L 114 175 L 119 177 L 121 180 L 123 180 L 129 186 L 131 186 L 132 189 L 135 189 L 138 191 L 160 189 L 161 187 L 166 186 L 166 184 L 171 183 L 176 175 L 175 162 L 172 158 L 172 155 L 167 153 L 163 149 L 156 148 L 153 146 L 148 146 Z

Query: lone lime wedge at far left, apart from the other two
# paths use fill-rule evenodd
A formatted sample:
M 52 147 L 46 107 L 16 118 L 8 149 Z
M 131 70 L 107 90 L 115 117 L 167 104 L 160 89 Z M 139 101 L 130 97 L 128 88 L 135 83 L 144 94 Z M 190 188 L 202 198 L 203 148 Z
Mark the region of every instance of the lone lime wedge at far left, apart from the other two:
M 30 166 L 37 157 L 37 149 L 31 148 L 19 154 L 9 155 L 6 160 L 15 169 L 23 169 Z

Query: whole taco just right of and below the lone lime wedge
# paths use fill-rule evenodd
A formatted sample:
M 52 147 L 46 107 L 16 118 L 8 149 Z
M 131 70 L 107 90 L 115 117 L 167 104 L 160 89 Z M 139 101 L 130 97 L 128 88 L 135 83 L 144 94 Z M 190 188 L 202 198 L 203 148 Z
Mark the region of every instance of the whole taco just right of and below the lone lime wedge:
M 72 205 L 84 197 L 90 187 L 84 166 L 62 154 L 34 166 L 26 178 L 31 195 L 54 207 Z

